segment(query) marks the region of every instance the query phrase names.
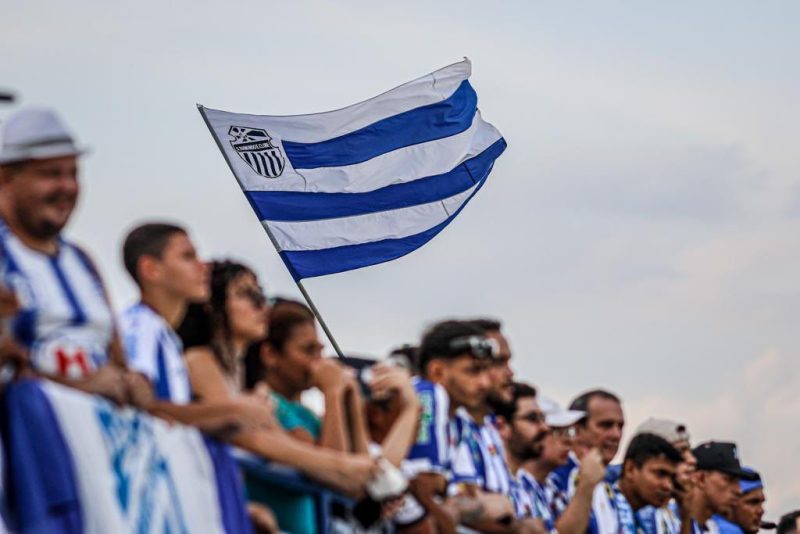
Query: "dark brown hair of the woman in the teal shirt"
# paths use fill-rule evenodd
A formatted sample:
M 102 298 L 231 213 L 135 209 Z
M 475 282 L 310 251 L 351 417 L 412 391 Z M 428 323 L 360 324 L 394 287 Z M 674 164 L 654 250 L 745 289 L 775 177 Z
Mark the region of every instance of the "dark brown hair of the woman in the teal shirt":
M 314 312 L 302 302 L 276 298 L 269 316 L 267 337 L 251 345 L 245 355 L 245 388 L 252 389 L 266 376 L 267 370 L 261 361 L 261 348 L 264 344 L 269 345 L 276 352 L 281 352 L 296 326 L 305 323 L 314 324 L 314 321 Z

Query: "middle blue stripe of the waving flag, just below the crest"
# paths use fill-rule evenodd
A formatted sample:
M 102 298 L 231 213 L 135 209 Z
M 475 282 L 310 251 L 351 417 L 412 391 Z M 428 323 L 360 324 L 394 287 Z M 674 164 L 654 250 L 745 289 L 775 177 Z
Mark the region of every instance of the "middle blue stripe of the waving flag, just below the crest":
M 310 221 L 405 208 L 448 198 L 469 189 L 477 181 L 473 176 L 488 174 L 494 160 L 505 149 L 506 142 L 501 138 L 450 172 L 368 193 L 245 191 L 245 195 L 262 221 Z

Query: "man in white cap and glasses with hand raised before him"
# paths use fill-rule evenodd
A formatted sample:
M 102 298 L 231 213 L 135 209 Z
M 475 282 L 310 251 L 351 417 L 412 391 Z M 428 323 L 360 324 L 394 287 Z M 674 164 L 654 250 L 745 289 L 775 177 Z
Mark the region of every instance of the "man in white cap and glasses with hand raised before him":
M 589 522 L 592 492 L 605 476 L 605 465 L 597 451 L 584 456 L 577 475 L 575 497 L 570 502 L 566 492 L 558 486 L 554 471 L 569 460 L 575 424 L 586 414 L 579 410 L 564 410 L 546 397 L 540 397 L 538 401 L 550 432 L 542 441 L 541 454 L 525 462 L 518 476 L 533 498 L 535 515 L 542 518 L 548 530 L 555 530 L 556 522 L 569 509 L 566 515 L 572 518 L 571 524 L 568 521 L 561 528 L 564 532 L 572 528 L 572 531 L 582 533 L 586 528 L 582 525 Z

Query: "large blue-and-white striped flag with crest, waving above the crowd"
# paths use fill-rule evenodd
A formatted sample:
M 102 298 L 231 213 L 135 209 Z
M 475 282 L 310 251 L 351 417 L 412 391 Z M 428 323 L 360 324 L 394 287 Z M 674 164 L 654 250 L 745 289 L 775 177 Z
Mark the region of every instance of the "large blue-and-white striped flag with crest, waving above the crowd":
M 503 137 L 478 111 L 469 60 L 336 111 L 199 106 L 295 280 L 399 258 L 483 186 Z

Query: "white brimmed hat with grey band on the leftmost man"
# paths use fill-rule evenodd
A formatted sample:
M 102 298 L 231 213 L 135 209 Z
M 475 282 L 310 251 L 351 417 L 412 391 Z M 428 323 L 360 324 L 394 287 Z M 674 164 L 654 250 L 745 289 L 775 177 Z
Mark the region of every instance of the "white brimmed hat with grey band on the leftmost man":
M 0 165 L 79 156 L 85 152 L 85 148 L 75 144 L 75 138 L 51 109 L 22 109 L 0 125 Z

